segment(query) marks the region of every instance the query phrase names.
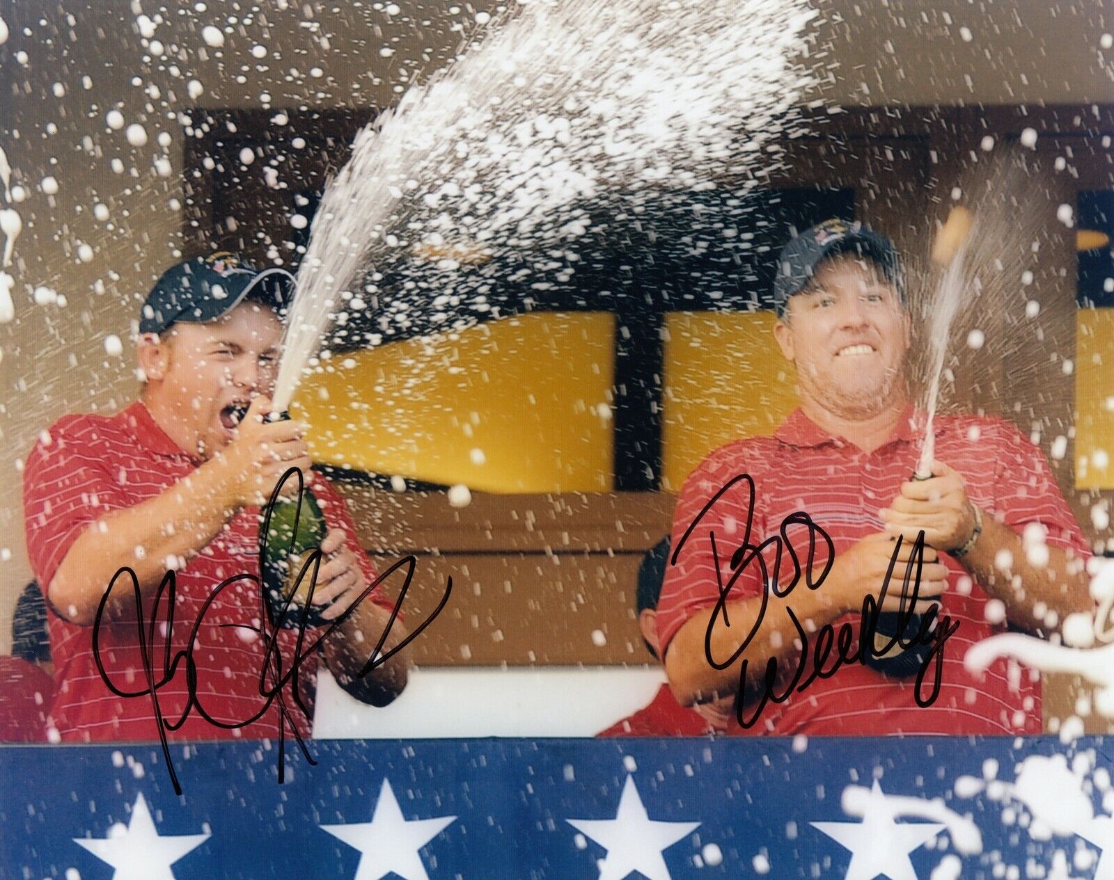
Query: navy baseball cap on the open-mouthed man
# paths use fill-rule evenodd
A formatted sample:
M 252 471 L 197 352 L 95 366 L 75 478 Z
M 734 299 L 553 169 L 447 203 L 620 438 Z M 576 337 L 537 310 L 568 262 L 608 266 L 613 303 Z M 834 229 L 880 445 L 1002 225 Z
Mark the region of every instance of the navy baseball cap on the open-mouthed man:
M 253 293 L 282 316 L 294 296 L 294 276 L 280 268 L 260 271 L 227 253 L 195 257 L 155 281 L 139 313 L 139 333 L 163 333 L 177 322 L 215 320 Z

